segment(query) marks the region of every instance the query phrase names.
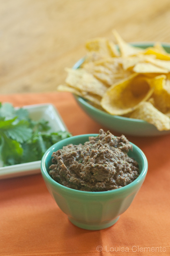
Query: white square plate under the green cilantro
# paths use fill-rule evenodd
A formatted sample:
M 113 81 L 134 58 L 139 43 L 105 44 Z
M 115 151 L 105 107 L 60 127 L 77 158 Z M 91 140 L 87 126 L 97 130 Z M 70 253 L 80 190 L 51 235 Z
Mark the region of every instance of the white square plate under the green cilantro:
M 34 121 L 38 121 L 41 118 L 48 121 L 49 126 L 51 127 L 49 132 L 68 131 L 57 109 L 52 104 L 36 104 L 23 106 L 22 108 L 28 110 L 29 117 Z M 20 163 L 18 165 L 0 167 L 0 179 L 40 173 L 40 165 L 41 161 L 34 161 L 30 163 Z

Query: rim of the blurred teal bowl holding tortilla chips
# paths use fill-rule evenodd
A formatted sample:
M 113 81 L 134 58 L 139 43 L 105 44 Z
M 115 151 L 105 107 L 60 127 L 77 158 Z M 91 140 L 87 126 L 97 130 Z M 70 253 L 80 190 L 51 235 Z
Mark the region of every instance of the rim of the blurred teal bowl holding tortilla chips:
M 148 47 L 152 47 L 154 45 L 154 41 L 146 41 L 146 42 L 131 42 L 129 43 L 130 45 L 133 45 L 133 46 L 136 46 L 136 47 L 140 47 L 140 46 L 148 46 Z M 164 43 L 164 42 L 160 42 L 161 45 L 163 47 L 169 47 L 170 48 L 170 43 Z M 117 45 L 116 45 L 117 46 Z M 79 59 L 75 64 L 74 66 L 72 67 L 72 69 L 78 69 L 80 67 L 80 65 L 84 62 L 85 60 L 85 57 Z M 147 123 L 149 124 L 148 122 L 144 121 L 144 120 L 141 120 L 141 119 L 134 119 L 134 118 L 130 118 L 130 117 L 122 117 L 122 116 L 119 116 L 119 115 L 111 115 L 110 113 L 107 113 L 103 110 L 100 110 L 98 108 L 95 108 L 94 106 L 92 106 L 90 103 L 88 103 L 87 100 L 85 100 L 85 98 L 81 97 L 81 96 L 78 96 L 78 95 L 75 95 L 73 94 L 74 97 L 77 98 L 77 100 L 79 102 L 81 102 L 81 104 L 85 105 L 87 108 L 90 108 L 91 110 L 93 111 L 96 111 L 102 115 L 106 115 L 108 117 L 112 117 L 114 119 L 119 119 L 119 120 L 124 120 L 124 121 L 129 121 L 129 122 L 135 122 L 135 123 Z

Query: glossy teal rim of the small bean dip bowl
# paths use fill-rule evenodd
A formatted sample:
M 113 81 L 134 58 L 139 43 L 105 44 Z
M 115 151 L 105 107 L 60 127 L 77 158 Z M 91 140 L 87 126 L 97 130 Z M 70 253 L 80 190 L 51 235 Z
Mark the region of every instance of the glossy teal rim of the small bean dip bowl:
M 50 176 L 50 174 L 48 174 L 48 171 L 47 171 L 46 165 L 45 165 L 46 160 L 47 160 L 49 154 L 52 156 L 52 152 L 56 151 L 55 148 L 59 144 L 62 145 L 63 142 L 64 142 L 64 144 L 65 144 L 65 142 L 68 142 L 68 144 L 70 144 L 70 143 L 72 143 L 72 139 L 74 139 L 74 138 L 77 139 L 77 138 L 85 137 L 85 138 L 89 139 L 89 137 L 91 137 L 91 136 L 96 137 L 97 135 L 98 134 L 81 134 L 81 135 L 72 136 L 72 137 L 63 139 L 62 141 L 59 141 L 59 142 L 55 143 L 54 145 L 52 145 L 50 148 L 48 148 L 48 150 L 46 150 L 46 152 L 44 153 L 44 155 L 42 157 L 42 160 L 41 160 L 41 173 L 42 173 L 43 178 L 45 176 L 46 181 L 48 181 L 50 184 L 54 185 L 55 187 L 56 186 L 59 187 L 60 189 L 64 190 L 65 192 L 68 192 L 68 193 L 70 192 L 70 193 L 74 193 L 74 194 L 80 193 L 82 195 L 110 195 L 110 194 L 114 194 L 115 195 L 117 193 L 125 192 L 127 189 L 131 189 L 132 187 L 135 187 L 135 185 L 137 185 L 139 182 L 141 182 L 141 180 L 143 180 L 145 178 L 146 173 L 148 171 L 148 161 L 147 161 L 147 158 L 146 158 L 144 152 L 139 147 L 137 147 L 135 144 L 130 142 L 130 144 L 133 145 L 133 150 L 135 148 L 137 153 L 142 158 L 142 170 L 141 170 L 139 176 L 133 182 L 127 184 L 124 187 L 120 187 L 118 189 L 113 189 L 113 190 L 109 190 L 109 191 L 96 191 L 96 192 L 81 191 L 81 190 L 72 189 L 70 187 L 63 186 L 63 185 L 59 184 L 58 182 L 56 182 L 55 180 L 53 180 L 53 178 Z

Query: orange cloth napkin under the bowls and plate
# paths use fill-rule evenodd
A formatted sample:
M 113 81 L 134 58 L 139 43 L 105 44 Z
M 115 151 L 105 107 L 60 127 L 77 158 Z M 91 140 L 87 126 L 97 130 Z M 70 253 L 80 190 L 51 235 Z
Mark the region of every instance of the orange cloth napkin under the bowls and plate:
M 70 93 L 1 95 L 0 101 L 14 106 L 50 102 L 73 135 L 107 131 Z M 127 138 L 146 154 L 148 174 L 131 206 L 104 230 L 70 223 L 41 174 L 0 180 L 0 256 L 170 255 L 170 135 Z

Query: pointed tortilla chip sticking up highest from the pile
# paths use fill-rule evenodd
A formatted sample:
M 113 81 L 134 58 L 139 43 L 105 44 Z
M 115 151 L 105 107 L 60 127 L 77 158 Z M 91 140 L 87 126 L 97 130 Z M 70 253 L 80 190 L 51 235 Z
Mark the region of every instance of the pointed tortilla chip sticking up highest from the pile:
M 122 57 L 127 57 L 127 56 L 133 56 L 133 55 L 137 55 L 139 53 L 144 52 L 144 50 L 142 48 L 139 47 L 134 47 L 128 43 L 126 43 L 118 34 L 118 32 L 116 30 L 113 30 L 113 34 L 115 36 L 115 39 L 118 43 L 120 52 L 121 52 L 121 56 Z

